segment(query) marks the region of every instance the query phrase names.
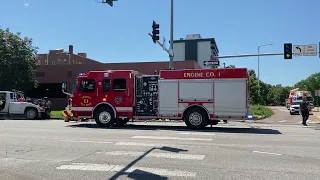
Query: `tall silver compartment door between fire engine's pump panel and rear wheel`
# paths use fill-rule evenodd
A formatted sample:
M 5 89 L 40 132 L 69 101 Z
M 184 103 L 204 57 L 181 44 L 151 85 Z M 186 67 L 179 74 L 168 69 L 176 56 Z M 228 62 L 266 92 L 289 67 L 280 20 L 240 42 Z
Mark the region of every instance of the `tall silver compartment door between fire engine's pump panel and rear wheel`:
M 178 81 L 159 80 L 159 115 L 178 115 Z

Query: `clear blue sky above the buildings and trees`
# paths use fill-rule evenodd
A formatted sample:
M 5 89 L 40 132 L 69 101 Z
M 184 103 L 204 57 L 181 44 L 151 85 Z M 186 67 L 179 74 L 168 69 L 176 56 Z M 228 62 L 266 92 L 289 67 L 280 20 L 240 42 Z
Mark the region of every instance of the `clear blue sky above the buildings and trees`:
M 283 43 L 318 44 L 316 0 L 175 0 L 175 39 L 187 34 L 216 38 L 220 55 L 281 53 Z M 102 62 L 165 61 L 168 55 L 147 35 L 152 20 L 169 39 L 170 0 L 118 0 L 111 8 L 95 0 L 2 0 L 0 26 L 34 39 L 39 53 L 74 45 Z M 221 63 L 257 69 L 257 57 Z M 320 58 L 260 58 L 260 78 L 293 85 L 320 71 Z

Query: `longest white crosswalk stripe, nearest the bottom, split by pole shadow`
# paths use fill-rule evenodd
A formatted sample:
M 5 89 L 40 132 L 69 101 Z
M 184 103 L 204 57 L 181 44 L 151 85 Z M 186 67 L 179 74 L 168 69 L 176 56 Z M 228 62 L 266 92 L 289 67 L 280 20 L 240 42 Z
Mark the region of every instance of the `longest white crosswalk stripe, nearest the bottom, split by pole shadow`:
M 59 170 L 80 170 L 80 171 L 102 171 L 102 172 L 119 172 L 126 166 L 122 165 L 109 165 L 109 164 L 89 164 L 89 163 L 72 163 L 70 165 L 61 165 L 57 167 Z M 159 176 L 179 176 L 179 177 L 195 177 L 196 172 L 171 170 L 171 169 L 160 169 L 160 168 L 149 168 L 149 167 L 138 167 L 132 166 L 124 173 L 134 174 L 156 174 Z

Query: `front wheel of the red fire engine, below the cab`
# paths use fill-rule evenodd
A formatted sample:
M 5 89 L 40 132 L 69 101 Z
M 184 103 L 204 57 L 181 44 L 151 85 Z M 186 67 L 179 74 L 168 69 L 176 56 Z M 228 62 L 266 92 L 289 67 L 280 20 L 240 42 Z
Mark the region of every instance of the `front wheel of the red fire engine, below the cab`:
M 94 117 L 100 127 L 110 127 L 114 124 L 114 113 L 110 108 L 102 107 L 95 112 Z

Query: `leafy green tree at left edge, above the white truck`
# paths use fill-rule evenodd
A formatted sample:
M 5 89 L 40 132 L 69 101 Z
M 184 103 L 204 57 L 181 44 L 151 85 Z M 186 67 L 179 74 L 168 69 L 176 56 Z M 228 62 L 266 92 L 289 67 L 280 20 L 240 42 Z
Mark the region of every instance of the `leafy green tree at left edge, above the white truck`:
M 29 90 L 35 80 L 37 48 L 32 39 L 0 28 L 0 88 Z

